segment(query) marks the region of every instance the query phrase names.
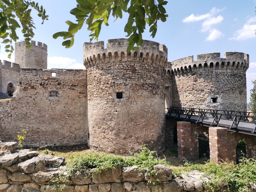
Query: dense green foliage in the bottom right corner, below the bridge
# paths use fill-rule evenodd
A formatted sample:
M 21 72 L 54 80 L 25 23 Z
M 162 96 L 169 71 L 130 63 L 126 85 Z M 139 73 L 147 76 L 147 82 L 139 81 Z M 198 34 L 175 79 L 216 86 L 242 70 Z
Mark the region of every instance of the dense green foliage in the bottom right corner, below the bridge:
M 240 163 L 232 162 L 207 162 L 205 165 L 187 163 L 184 171 L 198 170 L 210 179 L 204 183 L 210 191 L 215 191 L 220 186 L 227 186 L 228 191 L 250 191 L 251 183 L 256 183 L 256 160 L 242 157 Z

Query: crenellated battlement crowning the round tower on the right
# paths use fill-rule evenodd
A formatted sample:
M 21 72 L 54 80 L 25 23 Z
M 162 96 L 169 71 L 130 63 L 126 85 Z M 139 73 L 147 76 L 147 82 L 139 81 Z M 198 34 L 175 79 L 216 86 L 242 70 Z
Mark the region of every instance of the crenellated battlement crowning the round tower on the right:
M 219 52 L 188 56 L 170 62 L 172 74 L 182 75 L 200 71 L 211 72 L 246 72 L 249 68 L 249 55 L 242 52 L 224 52 L 224 58 L 220 58 Z

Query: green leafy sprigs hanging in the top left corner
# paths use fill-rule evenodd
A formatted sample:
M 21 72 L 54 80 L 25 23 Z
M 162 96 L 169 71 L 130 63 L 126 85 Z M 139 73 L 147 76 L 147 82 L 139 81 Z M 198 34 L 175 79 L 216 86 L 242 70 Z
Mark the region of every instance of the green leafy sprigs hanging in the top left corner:
M 42 24 L 44 20 L 48 20 L 45 9 L 39 6 L 38 3 L 30 0 L 2 0 L 0 1 L 0 38 L 3 39 L 5 51 L 9 52 L 8 58 L 11 57 L 14 48 L 12 46 L 13 41 L 17 41 L 19 37 L 16 34 L 16 29 L 22 27 L 22 33 L 25 37 L 25 44 L 28 49 L 31 49 L 31 38 L 34 37 L 33 18 L 30 16 L 31 9 L 35 9 L 38 12 L 38 16 L 42 18 Z M 20 24 L 17 22 L 16 17 L 19 19 Z

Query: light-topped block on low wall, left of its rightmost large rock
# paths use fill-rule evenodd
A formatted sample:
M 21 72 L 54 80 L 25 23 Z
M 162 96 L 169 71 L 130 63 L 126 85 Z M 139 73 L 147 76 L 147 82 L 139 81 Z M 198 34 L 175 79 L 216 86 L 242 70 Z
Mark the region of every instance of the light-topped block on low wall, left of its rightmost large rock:
M 140 170 L 137 166 L 123 167 L 123 180 L 130 182 L 139 182 L 144 180 L 145 170 Z

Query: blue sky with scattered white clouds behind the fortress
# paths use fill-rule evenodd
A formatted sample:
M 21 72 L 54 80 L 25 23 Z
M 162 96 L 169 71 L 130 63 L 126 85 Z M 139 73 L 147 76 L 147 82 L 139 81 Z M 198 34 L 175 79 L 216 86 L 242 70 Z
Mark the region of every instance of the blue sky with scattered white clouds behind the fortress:
M 168 0 L 167 0 L 168 1 Z M 59 31 L 67 31 L 65 21 L 75 21 L 69 11 L 76 7 L 74 0 L 40 0 L 39 4 L 46 9 L 49 20 L 41 25 L 36 13 L 32 16 L 35 22 L 35 37 L 33 40 L 48 45 L 48 68 L 84 68 L 83 43 L 89 42 L 90 32 L 86 27 L 75 36 L 73 47 L 65 49 L 63 39 L 53 39 L 52 35 Z M 250 67 L 247 70 L 247 102 L 250 100 L 252 80 L 256 79 L 256 0 L 180 0 L 168 1 L 165 6 L 169 15 L 167 21 L 158 21 L 155 38 L 150 37 L 149 27 L 143 34 L 143 39 L 165 44 L 168 48 L 168 61 L 197 54 L 224 51 L 244 52 L 250 55 Z M 125 38 L 124 26 L 127 15 L 123 19 L 111 17 L 109 26 L 102 26 L 99 41 Z M 17 33 L 20 41 L 24 40 L 21 32 Z M 93 41 L 94 42 L 94 41 Z M 7 59 L 4 45 L 1 45 L 0 59 L 14 62 L 14 54 Z M 232 82 L 230 82 L 232 83 Z

